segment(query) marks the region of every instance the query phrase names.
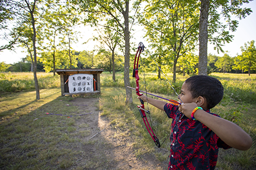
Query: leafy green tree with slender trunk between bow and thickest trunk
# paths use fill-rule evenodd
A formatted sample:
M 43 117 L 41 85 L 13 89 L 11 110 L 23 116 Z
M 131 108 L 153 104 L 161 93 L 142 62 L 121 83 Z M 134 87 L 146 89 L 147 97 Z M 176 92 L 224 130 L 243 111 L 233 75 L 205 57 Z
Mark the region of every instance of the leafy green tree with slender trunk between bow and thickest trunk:
M 178 59 L 196 47 L 199 11 L 196 1 L 156 1 L 146 6 L 145 12 L 140 16 L 140 23 L 146 27 L 146 36 L 152 47 L 166 50 L 173 62 L 173 79 L 176 81 L 176 67 Z M 158 55 L 156 55 L 158 56 Z M 163 56 L 163 55 L 162 55 Z

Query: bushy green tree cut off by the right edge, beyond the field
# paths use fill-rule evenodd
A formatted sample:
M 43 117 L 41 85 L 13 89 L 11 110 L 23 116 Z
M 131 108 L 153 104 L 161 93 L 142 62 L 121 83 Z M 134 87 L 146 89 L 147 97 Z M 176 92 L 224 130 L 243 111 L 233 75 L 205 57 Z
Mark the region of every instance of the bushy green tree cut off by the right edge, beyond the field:
M 235 67 L 244 71 L 248 71 L 250 76 L 251 70 L 256 69 L 256 48 L 254 40 L 245 43 L 244 47 L 241 47 L 242 55 L 238 55 L 235 60 Z

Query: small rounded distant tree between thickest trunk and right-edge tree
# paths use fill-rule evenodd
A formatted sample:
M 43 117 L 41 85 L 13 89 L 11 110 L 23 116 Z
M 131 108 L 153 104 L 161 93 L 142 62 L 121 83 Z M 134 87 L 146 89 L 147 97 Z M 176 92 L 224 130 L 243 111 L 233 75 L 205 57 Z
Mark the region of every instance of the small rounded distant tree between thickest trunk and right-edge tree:
M 215 66 L 223 70 L 223 74 L 225 71 L 231 71 L 233 60 L 229 57 L 228 54 L 224 54 L 223 57 L 220 57 L 219 60 L 216 61 Z

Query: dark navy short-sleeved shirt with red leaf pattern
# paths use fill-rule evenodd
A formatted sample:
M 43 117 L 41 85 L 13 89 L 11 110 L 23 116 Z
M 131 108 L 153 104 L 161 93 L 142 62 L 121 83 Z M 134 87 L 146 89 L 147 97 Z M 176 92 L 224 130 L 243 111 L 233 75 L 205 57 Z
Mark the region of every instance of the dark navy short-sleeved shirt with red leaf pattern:
M 167 103 L 164 110 L 173 119 L 168 169 L 215 169 L 219 148 L 231 147 L 203 123 L 184 116 L 178 106 Z

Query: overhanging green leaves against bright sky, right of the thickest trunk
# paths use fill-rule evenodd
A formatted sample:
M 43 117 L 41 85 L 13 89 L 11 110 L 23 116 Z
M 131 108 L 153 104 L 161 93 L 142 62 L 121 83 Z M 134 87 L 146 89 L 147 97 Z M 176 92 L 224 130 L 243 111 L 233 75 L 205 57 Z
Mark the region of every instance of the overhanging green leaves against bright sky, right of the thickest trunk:
M 249 0 L 252 1 L 252 0 Z M 245 18 L 251 14 L 251 8 L 242 8 L 243 4 L 248 4 L 248 0 L 213 0 L 210 1 L 208 31 L 209 41 L 215 45 L 215 50 L 219 53 L 225 42 L 231 42 L 233 35 L 229 31 L 236 31 L 238 21 L 235 18 Z

